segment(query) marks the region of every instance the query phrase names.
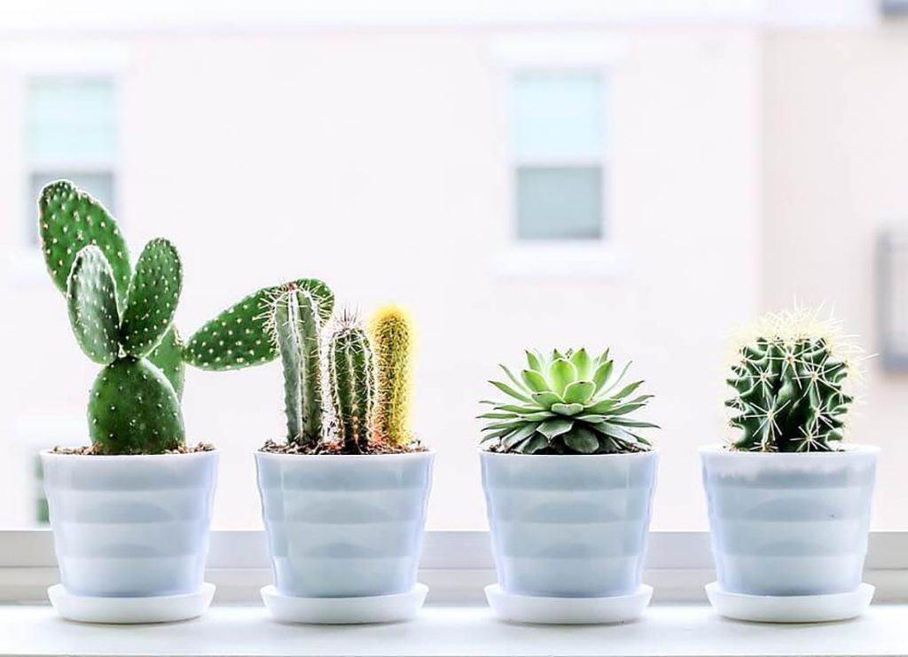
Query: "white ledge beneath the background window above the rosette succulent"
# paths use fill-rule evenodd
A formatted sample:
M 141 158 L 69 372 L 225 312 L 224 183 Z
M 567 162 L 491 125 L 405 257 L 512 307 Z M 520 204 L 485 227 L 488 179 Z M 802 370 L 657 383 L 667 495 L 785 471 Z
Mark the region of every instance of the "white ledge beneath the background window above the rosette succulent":
M 608 242 L 512 244 L 492 260 L 492 272 L 519 278 L 613 279 L 627 271 L 625 254 Z

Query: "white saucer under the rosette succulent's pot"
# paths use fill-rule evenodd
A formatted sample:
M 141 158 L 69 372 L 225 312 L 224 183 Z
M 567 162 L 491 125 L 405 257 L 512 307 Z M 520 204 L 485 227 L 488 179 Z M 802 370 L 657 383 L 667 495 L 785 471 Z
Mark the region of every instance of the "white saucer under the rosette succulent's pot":
M 641 584 L 635 593 L 604 598 L 550 598 L 538 595 L 505 593 L 498 584 L 486 587 L 489 606 L 502 621 L 588 625 L 626 623 L 640 617 L 653 587 Z

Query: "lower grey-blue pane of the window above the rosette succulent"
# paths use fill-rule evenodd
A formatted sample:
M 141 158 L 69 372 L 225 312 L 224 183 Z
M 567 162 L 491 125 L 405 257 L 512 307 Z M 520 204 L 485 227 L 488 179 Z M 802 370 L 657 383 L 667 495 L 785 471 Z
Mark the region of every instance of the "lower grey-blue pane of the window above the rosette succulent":
M 600 167 L 518 167 L 518 239 L 602 237 Z

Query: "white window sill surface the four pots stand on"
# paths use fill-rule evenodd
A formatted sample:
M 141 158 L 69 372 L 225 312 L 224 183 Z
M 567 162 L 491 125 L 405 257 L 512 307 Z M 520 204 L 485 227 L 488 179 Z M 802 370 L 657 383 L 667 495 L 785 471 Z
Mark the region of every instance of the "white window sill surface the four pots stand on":
M 908 605 L 846 623 L 726 621 L 703 604 L 655 605 L 624 625 L 501 623 L 486 606 L 429 605 L 410 623 L 275 623 L 262 606 L 214 606 L 163 625 L 67 623 L 47 606 L 0 606 L 0 655 L 893 655 Z

